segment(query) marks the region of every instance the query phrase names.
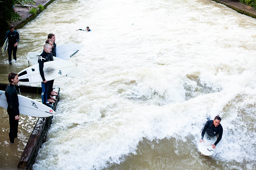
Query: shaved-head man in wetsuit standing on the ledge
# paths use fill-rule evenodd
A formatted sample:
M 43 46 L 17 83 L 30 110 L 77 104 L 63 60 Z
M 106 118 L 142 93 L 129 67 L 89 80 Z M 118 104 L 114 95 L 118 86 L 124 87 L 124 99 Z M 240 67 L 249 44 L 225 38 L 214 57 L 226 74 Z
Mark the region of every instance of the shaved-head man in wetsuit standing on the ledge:
M 49 88 L 49 82 L 44 78 L 44 63 L 48 61 L 53 61 L 52 56 L 50 55 L 52 51 L 52 46 L 50 44 L 44 44 L 44 51 L 43 53 L 38 57 L 38 63 L 39 63 L 39 71 L 40 75 L 43 79 L 42 85 L 42 103 L 48 107 L 53 107 L 52 105 L 47 103 L 47 93 Z

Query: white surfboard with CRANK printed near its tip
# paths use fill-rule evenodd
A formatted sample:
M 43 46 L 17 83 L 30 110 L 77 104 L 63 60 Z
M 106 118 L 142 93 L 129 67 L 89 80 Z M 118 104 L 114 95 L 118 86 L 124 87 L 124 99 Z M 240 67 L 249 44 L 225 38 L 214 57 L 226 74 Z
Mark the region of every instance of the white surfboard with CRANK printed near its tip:
M 62 60 L 68 60 L 75 56 L 82 48 L 83 44 L 70 43 L 56 46 L 56 56 Z

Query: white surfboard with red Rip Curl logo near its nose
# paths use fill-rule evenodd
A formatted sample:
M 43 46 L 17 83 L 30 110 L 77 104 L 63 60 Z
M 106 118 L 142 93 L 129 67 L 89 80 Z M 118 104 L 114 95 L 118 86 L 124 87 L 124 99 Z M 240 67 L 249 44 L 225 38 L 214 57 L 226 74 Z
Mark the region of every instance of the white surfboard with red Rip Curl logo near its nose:
M 8 104 L 5 97 L 5 92 L 0 90 L 0 106 L 7 109 Z M 34 116 L 34 117 L 48 117 L 52 115 L 56 115 L 56 112 L 52 110 L 50 107 L 36 101 L 30 99 L 25 96 L 21 96 L 18 94 L 19 98 L 19 111 L 22 115 Z

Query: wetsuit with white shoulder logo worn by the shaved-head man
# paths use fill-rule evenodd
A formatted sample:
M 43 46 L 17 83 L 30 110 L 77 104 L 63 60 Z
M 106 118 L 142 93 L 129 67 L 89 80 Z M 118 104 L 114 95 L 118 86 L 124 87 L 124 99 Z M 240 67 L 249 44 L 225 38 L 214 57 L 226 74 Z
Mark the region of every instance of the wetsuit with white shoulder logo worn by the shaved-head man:
M 41 75 L 43 81 L 45 80 L 44 70 L 43 70 L 44 63 L 48 62 L 48 61 L 53 61 L 52 55 L 51 55 L 51 53 L 46 53 L 45 51 L 43 51 L 43 53 L 38 57 L 39 71 L 40 71 L 40 75 Z M 48 81 L 46 83 L 42 82 L 41 85 L 42 85 L 42 94 L 41 94 L 42 103 L 46 105 L 48 89 L 49 89 L 49 82 Z

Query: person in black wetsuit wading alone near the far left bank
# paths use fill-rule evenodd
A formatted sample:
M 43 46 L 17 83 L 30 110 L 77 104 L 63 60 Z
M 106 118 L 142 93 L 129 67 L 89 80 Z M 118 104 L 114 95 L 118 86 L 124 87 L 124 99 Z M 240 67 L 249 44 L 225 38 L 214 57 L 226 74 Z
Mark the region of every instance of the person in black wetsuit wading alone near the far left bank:
M 14 27 L 11 25 L 10 26 L 10 31 L 7 31 L 6 34 L 5 34 L 5 39 L 4 41 L 8 38 L 8 60 L 9 60 L 9 64 L 11 65 L 12 64 L 12 51 L 13 51 L 13 59 L 17 60 L 16 58 L 16 53 L 17 53 L 17 45 L 18 45 L 18 42 L 20 41 L 20 35 L 17 31 L 14 30 Z

